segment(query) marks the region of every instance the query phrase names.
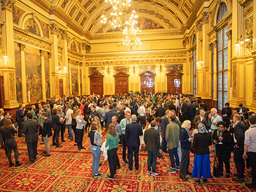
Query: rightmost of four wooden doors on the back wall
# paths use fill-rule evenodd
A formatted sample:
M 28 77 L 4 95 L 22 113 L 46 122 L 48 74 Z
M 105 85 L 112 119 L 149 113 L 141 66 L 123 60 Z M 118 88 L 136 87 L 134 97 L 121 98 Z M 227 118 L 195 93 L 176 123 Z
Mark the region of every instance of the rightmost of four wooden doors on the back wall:
M 172 70 L 166 74 L 167 76 L 167 92 L 174 94 L 182 93 L 182 72 Z

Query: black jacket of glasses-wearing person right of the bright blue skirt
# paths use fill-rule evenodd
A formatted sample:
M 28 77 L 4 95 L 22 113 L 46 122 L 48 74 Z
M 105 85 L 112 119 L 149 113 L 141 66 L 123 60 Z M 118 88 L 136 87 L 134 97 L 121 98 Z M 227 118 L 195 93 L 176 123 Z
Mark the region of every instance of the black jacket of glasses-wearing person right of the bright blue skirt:
M 230 152 L 233 147 L 233 142 L 232 142 L 232 136 L 229 131 L 224 130 L 222 136 L 223 140 L 221 143 L 223 144 L 216 144 L 216 155 L 217 157 L 226 157 L 230 159 Z M 213 134 L 212 134 L 212 143 L 214 143 L 214 140 L 220 141 L 218 137 L 218 129 L 216 129 Z

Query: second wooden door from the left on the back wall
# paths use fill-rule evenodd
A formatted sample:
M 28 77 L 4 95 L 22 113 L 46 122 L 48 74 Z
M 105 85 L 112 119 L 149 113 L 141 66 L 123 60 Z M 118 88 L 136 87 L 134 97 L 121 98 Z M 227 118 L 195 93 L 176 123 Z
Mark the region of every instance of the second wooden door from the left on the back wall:
M 124 72 L 118 72 L 114 75 L 115 77 L 115 93 L 124 95 L 129 91 L 129 74 Z

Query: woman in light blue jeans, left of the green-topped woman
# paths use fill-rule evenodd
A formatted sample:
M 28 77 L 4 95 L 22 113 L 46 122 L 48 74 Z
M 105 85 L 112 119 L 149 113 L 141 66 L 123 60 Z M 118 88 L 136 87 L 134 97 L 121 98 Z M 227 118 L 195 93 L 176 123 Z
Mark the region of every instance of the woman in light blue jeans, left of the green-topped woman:
M 98 130 L 98 124 L 92 123 L 91 125 L 91 131 L 88 134 L 88 137 L 91 141 L 90 150 L 92 152 L 92 173 L 93 177 L 101 177 L 102 173 L 99 172 L 99 166 L 100 166 L 100 156 L 101 156 L 101 150 L 100 147 L 102 145 L 102 135 Z

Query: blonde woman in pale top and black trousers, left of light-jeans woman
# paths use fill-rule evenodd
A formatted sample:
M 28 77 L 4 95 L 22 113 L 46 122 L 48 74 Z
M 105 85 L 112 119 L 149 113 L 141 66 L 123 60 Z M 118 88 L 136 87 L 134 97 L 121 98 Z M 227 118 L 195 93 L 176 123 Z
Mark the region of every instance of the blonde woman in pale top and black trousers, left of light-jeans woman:
M 83 136 L 84 136 L 84 116 L 80 109 L 76 110 L 76 136 L 78 150 L 84 149 Z

